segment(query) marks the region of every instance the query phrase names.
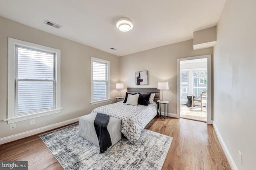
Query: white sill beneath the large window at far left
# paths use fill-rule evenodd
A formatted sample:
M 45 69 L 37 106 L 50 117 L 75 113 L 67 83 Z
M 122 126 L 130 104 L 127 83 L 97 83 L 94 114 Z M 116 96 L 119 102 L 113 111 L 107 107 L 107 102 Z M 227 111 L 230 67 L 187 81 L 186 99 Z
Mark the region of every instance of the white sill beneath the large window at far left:
M 52 114 L 55 114 L 55 113 L 60 113 L 61 110 L 62 109 L 54 109 L 54 110 L 48 110 L 48 111 L 33 113 L 33 114 L 30 114 L 30 115 L 20 115 L 20 116 L 12 117 L 10 119 L 4 119 L 4 121 L 7 121 L 8 124 L 10 124 L 10 123 L 15 123 L 15 122 L 19 122 L 19 121 L 28 120 L 28 119 L 34 119 L 34 118 L 42 117 L 42 116 L 46 116 L 46 115 L 52 115 Z

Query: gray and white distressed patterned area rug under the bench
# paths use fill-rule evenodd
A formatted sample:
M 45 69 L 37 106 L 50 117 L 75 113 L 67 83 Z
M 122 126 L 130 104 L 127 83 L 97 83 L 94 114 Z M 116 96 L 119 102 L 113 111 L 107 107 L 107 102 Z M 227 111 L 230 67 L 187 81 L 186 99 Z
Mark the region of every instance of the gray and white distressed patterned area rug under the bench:
M 144 129 L 135 144 L 122 138 L 100 154 L 78 135 L 78 124 L 39 136 L 65 170 L 161 170 L 172 143 L 172 137 Z

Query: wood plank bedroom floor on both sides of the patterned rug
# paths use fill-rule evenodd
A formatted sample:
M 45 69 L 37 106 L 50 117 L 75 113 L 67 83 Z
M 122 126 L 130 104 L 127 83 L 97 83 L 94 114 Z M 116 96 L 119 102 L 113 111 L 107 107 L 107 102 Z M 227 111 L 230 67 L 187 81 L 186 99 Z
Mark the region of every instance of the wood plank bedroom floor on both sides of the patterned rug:
M 145 129 L 173 137 L 162 170 L 231 170 L 212 125 L 154 118 Z M 0 145 L 0 160 L 27 160 L 29 170 L 63 170 L 38 135 Z

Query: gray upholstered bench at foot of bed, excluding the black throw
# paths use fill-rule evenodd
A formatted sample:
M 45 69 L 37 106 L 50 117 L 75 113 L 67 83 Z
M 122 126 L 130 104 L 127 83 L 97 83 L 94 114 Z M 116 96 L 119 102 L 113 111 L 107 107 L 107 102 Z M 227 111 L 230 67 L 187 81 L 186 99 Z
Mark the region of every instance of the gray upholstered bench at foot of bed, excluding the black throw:
M 94 119 L 96 115 L 97 113 L 90 113 L 79 117 L 79 136 L 100 147 L 94 128 Z M 107 129 L 111 138 L 112 146 L 114 146 L 122 138 L 121 119 L 110 117 Z

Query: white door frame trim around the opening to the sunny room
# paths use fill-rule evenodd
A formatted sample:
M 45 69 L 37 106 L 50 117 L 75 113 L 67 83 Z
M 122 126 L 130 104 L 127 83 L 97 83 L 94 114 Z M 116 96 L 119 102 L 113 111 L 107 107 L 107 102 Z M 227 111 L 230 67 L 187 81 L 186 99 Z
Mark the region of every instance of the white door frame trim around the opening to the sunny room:
M 187 57 L 177 59 L 177 118 L 180 118 L 180 61 L 205 59 L 207 58 L 207 124 L 212 124 L 212 55 L 201 55 L 196 57 Z

